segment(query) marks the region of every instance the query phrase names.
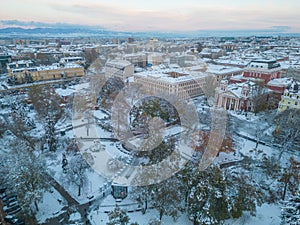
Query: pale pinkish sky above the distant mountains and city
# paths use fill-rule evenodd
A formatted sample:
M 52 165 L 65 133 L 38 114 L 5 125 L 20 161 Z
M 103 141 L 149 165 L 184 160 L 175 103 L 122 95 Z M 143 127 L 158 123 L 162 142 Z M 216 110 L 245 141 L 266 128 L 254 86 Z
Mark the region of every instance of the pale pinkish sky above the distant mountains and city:
M 0 8 L 0 27 L 9 26 L 1 21 L 18 20 L 92 25 L 118 31 L 259 30 L 280 27 L 288 32 L 300 32 L 300 0 L 4 1 Z

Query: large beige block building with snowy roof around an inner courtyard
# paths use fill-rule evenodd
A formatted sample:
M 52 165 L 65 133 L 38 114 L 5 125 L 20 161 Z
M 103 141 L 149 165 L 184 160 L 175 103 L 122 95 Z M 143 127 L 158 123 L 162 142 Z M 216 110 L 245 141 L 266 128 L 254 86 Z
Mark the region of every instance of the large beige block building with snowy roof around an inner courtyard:
M 150 94 L 166 93 L 188 99 L 203 94 L 205 76 L 205 73 L 183 69 L 161 69 L 136 73 L 134 81 Z

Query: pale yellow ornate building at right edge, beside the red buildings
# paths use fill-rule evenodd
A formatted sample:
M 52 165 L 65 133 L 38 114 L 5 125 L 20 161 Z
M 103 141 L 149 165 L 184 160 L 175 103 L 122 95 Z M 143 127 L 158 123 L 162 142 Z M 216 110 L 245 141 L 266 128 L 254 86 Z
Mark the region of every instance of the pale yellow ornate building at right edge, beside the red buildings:
M 285 89 L 278 105 L 279 112 L 286 109 L 300 109 L 299 82 L 295 80 Z

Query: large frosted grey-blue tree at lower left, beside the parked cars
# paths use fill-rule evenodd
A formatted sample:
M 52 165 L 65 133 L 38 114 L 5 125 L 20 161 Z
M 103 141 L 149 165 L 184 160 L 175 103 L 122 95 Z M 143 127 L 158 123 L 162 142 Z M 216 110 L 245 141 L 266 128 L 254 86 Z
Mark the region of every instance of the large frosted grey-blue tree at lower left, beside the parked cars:
M 17 194 L 24 209 L 31 213 L 31 206 L 34 205 L 38 211 L 37 203 L 49 187 L 42 156 L 29 151 L 24 142 L 18 142 L 11 146 L 8 154 L 1 157 L 1 165 L 6 186 Z

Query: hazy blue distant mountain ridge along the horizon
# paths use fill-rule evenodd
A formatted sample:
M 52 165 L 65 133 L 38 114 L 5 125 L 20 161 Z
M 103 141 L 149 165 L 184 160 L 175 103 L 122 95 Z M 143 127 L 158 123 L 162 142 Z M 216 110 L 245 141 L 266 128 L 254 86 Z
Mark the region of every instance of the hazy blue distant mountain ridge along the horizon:
M 199 30 L 191 32 L 123 32 L 91 27 L 7 27 L 0 29 L 1 37 L 238 37 L 238 36 L 297 36 L 299 33 L 280 33 L 272 30 Z

